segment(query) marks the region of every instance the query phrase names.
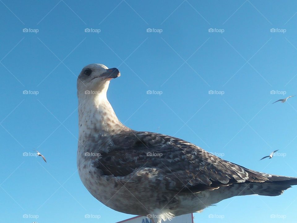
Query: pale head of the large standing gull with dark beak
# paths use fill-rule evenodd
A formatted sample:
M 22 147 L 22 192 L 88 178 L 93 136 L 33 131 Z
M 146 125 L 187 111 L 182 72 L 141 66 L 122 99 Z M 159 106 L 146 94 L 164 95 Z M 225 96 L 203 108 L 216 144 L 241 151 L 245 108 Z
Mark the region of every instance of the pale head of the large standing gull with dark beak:
M 77 95 L 106 93 L 110 80 L 120 76 L 117 68 L 92 63 L 85 66 L 77 78 Z

